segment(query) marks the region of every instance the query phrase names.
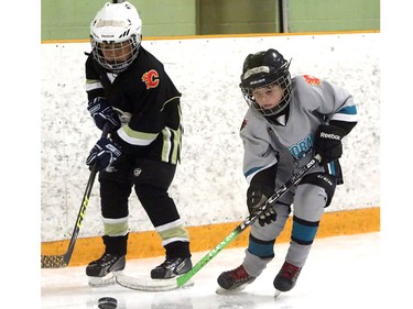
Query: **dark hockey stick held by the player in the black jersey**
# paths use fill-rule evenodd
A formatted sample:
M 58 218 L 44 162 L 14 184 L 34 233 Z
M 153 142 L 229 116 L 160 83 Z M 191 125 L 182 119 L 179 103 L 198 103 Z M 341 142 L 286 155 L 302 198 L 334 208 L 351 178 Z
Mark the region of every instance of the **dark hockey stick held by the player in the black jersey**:
M 101 133 L 101 137 L 106 137 L 109 133 L 110 125 L 106 123 Z M 66 267 L 70 262 L 73 251 L 75 249 L 76 240 L 80 231 L 81 221 L 85 217 L 86 207 L 89 203 L 91 188 L 94 187 L 96 174 L 98 173 L 96 164 L 91 167 L 89 180 L 87 181 L 84 198 L 80 203 L 80 209 L 76 218 L 76 224 L 72 233 L 72 239 L 67 251 L 62 255 L 41 255 L 41 268 L 62 268 Z

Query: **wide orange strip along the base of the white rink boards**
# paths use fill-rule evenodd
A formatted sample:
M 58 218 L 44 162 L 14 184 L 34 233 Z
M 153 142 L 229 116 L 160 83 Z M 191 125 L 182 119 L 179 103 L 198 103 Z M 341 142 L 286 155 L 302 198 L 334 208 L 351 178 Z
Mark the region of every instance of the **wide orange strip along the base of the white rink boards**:
M 220 243 L 240 222 L 188 227 L 192 252 L 209 251 Z M 289 242 L 292 228 L 292 218 L 286 222 L 284 231 L 276 242 Z M 380 208 L 365 208 L 326 212 L 319 224 L 317 239 L 370 233 L 380 231 Z M 241 233 L 227 247 L 242 247 L 248 245 L 249 231 Z M 42 243 L 42 254 L 63 254 L 69 241 Z M 100 236 L 83 238 L 76 242 L 70 266 L 87 265 L 90 261 L 99 258 L 104 252 Z M 153 256 L 164 256 L 161 238 L 155 231 L 134 232 L 129 234 L 128 260 Z

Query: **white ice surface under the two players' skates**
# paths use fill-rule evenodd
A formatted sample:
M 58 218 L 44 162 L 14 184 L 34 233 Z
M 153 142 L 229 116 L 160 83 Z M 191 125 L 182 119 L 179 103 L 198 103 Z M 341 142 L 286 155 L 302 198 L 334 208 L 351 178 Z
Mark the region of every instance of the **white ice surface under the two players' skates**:
M 189 288 L 146 293 L 115 285 L 91 288 L 85 267 L 41 271 L 41 308 L 98 308 L 101 297 L 115 297 L 118 309 L 209 309 L 209 308 L 376 308 L 380 285 L 380 233 L 319 239 L 313 245 L 300 279 L 290 293 L 274 298 L 272 282 L 287 250 L 275 245 L 275 258 L 243 291 L 216 294 L 218 275 L 240 265 L 244 249 L 220 252 L 194 277 Z M 207 252 L 194 253 L 197 263 Z M 149 278 L 150 269 L 163 257 L 128 261 L 128 275 Z

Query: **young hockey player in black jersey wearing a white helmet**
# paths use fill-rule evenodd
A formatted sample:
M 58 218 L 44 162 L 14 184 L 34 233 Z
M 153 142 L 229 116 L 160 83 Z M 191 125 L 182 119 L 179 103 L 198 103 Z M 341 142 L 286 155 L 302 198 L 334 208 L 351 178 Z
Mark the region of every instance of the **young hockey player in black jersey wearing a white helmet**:
M 100 172 L 105 228 L 105 253 L 86 268 L 93 286 L 115 282 L 113 274 L 124 268 L 132 188 L 166 252 L 151 277 L 172 278 L 192 268 L 189 236 L 167 192 L 180 161 L 181 93 L 163 64 L 141 46 L 141 26 L 127 1 L 106 3 L 90 23 L 87 109 L 100 130 L 111 126 L 86 161 Z

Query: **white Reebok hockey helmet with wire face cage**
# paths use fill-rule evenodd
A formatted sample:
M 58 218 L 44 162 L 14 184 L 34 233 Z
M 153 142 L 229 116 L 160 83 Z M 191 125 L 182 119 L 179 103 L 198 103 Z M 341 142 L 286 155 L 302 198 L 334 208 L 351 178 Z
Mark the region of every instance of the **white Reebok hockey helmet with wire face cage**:
M 106 69 L 120 73 L 137 58 L 142 40 L 142 21 L 128 1 L 107 2 L 90 23 L 90 43 L 95 59 Z M 130 51 L 129 51 L 130 47 Z M 122 57 L 107 59 L 106 54 L 129 51 Z

